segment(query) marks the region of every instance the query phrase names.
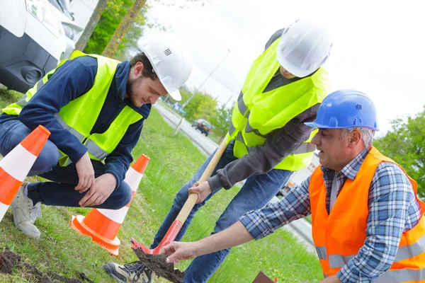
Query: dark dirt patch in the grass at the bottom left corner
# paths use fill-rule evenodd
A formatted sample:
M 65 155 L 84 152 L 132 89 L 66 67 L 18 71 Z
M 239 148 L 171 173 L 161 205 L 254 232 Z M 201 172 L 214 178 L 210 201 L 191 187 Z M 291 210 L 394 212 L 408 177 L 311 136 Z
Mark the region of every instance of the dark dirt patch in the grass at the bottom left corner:
M 94 283 L 91 281 L 84 272 L 79 274 L 80 278 L 65 278 L 62 275 L 53 272 L 43 273 L 38 270 L 34 265 L 21 262 L 21 255 L 11 252 L 7 247 L 4 253 L 0 253 L 0 272 L 5 274 L 11 274 L 13 268 L 19 268 L 23 272 L 23 277 L 35 279 L 35 282 L 40 283 L 53 283 L 53 282 L 64 282 L 64 283 Z

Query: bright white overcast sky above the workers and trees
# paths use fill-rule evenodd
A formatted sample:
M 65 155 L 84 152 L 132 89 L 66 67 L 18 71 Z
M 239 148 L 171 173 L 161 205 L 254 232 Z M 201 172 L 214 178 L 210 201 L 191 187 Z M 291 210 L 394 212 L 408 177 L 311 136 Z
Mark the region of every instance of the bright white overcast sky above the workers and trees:
M 151 1 L 149 18 L 188 45 L 193 57 L 191 88 L 198 88 L 230 50 L 202 87 L 220 103 L 237 98 L 251 62 L 276 30 L 297 18 L 320 18 L 334 37 L 331 57 L 324 65 L 331 76 L 331 90 L 356 88 L 367 93 L 386 131 L 389 120 L 419 112 L 425 105 L 422 3 L 210 0 L 204 6 L 179 8 Z

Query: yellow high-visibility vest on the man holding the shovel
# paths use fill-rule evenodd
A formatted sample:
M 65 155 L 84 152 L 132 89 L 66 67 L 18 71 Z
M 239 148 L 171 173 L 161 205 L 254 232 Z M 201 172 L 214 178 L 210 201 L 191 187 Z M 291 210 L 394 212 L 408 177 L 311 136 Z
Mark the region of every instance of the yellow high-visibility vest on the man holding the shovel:
M 263 93 L 280 65 L 276 59 L 279 40 L 257 58 L 249 70 L 242 93 L 234 105 L 227 143 L 234 140 L 233 154 L 241 158 L 250 147 L 266 141 L 268 134 L 285 126 L 297 115 L 311 108 L 329 94 L 327 72 L 319 68 L 307 76 L 285 86 Z M 297 171 L 312 160 L 316 146 L 310 141 L 316 131 L 298 149 L 283 159 L 275 169 Z

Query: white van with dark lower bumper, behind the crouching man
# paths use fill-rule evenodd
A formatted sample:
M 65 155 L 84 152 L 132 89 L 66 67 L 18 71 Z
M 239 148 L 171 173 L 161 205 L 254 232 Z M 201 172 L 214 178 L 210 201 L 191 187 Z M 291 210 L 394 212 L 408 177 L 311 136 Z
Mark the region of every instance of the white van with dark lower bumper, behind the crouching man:
M 25 93 L 55 69 L 64 28 L 47 0 L 0 0 L 0 83 Z

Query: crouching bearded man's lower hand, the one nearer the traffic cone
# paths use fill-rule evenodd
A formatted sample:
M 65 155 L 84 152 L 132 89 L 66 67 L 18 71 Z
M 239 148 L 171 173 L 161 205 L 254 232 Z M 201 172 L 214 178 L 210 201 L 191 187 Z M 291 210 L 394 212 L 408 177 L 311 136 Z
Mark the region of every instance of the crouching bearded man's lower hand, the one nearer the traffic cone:
M 79 201 L 80 207 L 93 207 L 103 204 L 111 195 L 117 185 L 115 176 L 111 173 L 106 173 L 96 178 L 94 186 L 90 187 L 89 192 Z M 81 191 L 80 191 L 81 192 Z

